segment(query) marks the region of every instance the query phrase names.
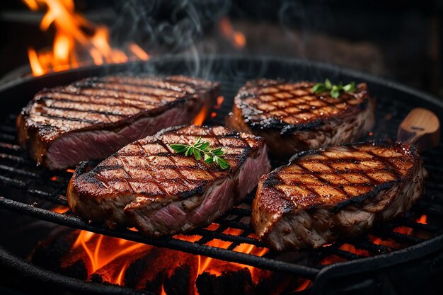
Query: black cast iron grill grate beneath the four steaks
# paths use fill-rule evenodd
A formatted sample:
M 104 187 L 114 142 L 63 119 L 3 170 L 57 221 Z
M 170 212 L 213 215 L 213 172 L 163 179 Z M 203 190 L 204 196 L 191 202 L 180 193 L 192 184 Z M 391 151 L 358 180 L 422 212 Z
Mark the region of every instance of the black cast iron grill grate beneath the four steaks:
M 232 99 L 244 79 L 217 79 L 221 81 L 221 108 L 209 111 L 207 125 L 223 125 L 224 117 L 231 109 Z M 377 125 L 372 138 L 395 138 L 396 129 L 413 108 L 399 100 L 377 101 Z M 318 250 L 304 250 L 280 255 L 268 250 L 258 241 L 249 224 L 250 205 L 255 192 L 242 204 L 227 212 L 222 218 L 205 228 L 195 229 L 172 238 L 150 239 L 137 231 L 118 228 L 108 230 L 100 224 L 88 223 L 69 211 L 64 197 L 73 170 L 50 171 L 36 167 L 16 142 L 16 114 L 11 113 L 0 125 L 0 205 L 3 208 L 28 214 L 56 224 L 85 229 L 140 243 L 183 250 L 188 253 L 240 262 L 269 270 L 291 272 L 306 279 L 313 279 L 318 272 L 332 262 L 359 260 L 379 254 L 418 245 L 443 233 L 443 146 L 422 154 L 429 172 L 425 197 L 415 204 L 402 219 L 377 224 L 371 232 L 350 241 L 340 241 Z M 280 166 L 282 161 L 274 161 Z M 56 208 L 54 210 L 54 208 Z M 63 213 L 58 213 L 63 212 Z M 427 216 L 425 224 L 420 216 Z M 378 239 L 378 240 L 377 240 Z M 217 246 L 214 241 L 219 241 Z M 384 243 L 386 242 L 386 243 Z M 389 242 L 389 243 L 388 243 Z M 251 253 L 239 252 L 241 245 L 253 249 Z

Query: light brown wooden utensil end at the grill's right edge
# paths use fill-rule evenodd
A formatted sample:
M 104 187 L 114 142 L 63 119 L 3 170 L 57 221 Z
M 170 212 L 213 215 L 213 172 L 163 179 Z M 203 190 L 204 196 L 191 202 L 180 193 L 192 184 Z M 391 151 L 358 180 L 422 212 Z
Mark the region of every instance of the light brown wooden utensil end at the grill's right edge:
M 440 122 L 437 115 L 425 108 L 411 110 L 398 126 L 397 140 L 414 144 L 419 152 L 438 146 Z

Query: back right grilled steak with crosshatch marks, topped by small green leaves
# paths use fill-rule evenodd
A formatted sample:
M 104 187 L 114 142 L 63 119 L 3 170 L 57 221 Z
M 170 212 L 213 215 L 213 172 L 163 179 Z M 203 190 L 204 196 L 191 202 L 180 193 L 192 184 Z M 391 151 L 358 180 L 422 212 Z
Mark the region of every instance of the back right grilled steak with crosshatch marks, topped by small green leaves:
M 265 137 L 272 154 L 280 157 L 356 141 L 374 126 L 374 101 L 365 83 L 338 98 L 314 94 L 313 85 L 248 81 L 234 98 L 226 126 Z

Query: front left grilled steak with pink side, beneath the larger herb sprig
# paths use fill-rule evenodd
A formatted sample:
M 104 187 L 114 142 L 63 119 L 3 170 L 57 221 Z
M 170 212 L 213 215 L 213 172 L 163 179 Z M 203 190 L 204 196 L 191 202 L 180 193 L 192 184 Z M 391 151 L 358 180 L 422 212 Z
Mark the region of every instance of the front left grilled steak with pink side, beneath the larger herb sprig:
M 222 170 L 183 154 L 171 144 L 198 137 L 222 147 Z M 264 139 L 225 127 L 172 127 L 125 146 L 96 168 L 77 168 L 69 182 L 71 209 L 108 226 L 135 226 L 147 236 L 173 235 L 209 224 L 253 190 L 270 171 Z M 241 185 L 239 185 L 241 184 Z

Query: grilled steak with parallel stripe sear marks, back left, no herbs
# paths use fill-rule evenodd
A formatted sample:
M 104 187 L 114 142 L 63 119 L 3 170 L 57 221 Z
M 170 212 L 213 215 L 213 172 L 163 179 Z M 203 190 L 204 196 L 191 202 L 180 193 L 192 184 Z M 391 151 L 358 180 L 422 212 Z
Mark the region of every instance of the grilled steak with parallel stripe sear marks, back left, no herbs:
M 18 116 L 18 140 L 38 164 L 67 168 L 189 124 L 218 88 L 185 76 L 105 76 L 44 89 Z

